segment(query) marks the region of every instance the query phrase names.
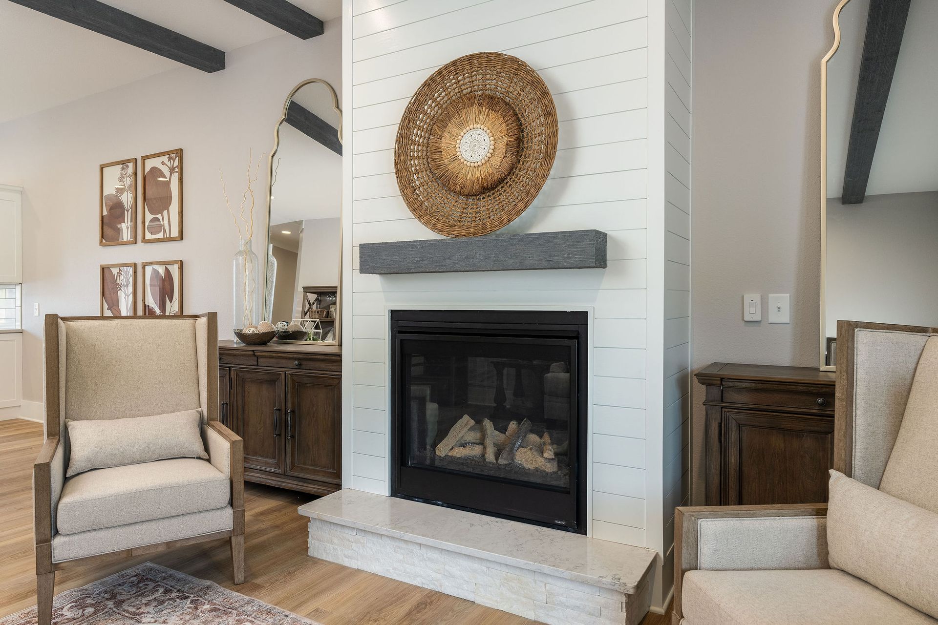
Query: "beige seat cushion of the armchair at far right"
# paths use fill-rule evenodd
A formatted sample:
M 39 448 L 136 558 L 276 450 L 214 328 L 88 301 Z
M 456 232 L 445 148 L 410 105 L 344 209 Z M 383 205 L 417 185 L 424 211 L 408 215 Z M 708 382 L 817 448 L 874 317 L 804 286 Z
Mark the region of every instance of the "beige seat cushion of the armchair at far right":
M 936 621 L 849 573 L 688 571 L 688 625 L 934 625 Z

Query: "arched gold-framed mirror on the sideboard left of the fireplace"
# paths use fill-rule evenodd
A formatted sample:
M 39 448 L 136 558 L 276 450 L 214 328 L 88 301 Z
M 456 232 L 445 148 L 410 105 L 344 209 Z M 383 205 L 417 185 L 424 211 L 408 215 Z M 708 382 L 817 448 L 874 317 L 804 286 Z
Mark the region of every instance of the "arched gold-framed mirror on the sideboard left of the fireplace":
M 335 89 L 300 82 L 270 153 L 265 319 L 278 341 L 341 341 L 342 113 Z

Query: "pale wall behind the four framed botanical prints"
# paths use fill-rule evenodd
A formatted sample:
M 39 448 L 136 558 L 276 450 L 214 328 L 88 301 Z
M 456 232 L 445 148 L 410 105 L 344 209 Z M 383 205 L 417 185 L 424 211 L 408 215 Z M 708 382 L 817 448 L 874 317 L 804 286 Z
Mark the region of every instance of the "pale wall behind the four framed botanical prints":
M 183 260 L 184 311 L 219 312 L 230 338 L 232 257 L 237 235 L 225 208 L 240 197 L 249 148 L 266 155 L 283 100 L 301 80 L 320 77 L 341 93 L 339 20 L 325 35 L 284 35 L 234 52 L 214 74 L 180 68 L 0 125 L 0 180 L 23 186 L 23 396 L 42 398 L 41 313 L 98 315 L 98 265 Z M 98 246 L 98 165 L 183 148 L 184 239 Z M 265 251 L 266 206 L 255 208 L 255 253 Z M 138 285 L 139 287 L 139 285 Z M 138 294 L 138 298 L 139 298 Z

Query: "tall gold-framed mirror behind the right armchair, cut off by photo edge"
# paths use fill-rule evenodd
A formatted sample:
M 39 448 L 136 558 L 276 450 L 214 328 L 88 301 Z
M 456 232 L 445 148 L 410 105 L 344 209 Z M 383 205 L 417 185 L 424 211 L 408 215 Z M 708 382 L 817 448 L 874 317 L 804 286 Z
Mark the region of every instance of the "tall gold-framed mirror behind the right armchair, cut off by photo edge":
M 849 0 L 838 22 L 826 63 L 824 368 L 836 364 L 838 320 L 938 322 L 938 2 Z

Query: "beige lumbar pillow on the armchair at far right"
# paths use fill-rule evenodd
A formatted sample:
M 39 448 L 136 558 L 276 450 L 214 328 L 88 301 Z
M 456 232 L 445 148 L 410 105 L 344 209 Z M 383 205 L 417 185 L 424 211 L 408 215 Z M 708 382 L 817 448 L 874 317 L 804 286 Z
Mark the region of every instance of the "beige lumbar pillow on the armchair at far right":
M 938 514 L 830 472 L 830 567 L 938 618 Z

